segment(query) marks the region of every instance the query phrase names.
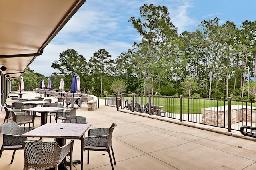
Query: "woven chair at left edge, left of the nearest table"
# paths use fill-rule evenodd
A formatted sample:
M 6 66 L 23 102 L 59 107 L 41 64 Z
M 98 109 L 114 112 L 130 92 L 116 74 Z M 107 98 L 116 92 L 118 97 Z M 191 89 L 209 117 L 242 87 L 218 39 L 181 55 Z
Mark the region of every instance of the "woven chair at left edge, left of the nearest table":
M 27 138 L 20 137 L 20 135 L 29 132 L 34 128 L 35 127 L 19 127 L 15 122 L 8 122 L 0 125 L 0 132 L 3 135 L 3 145 L 0 151 L 0 158 L 4 150 L 14 150 L 11 160 L 12 164 L 16 150 L 23 149 L 22 142 L 27 140 Z

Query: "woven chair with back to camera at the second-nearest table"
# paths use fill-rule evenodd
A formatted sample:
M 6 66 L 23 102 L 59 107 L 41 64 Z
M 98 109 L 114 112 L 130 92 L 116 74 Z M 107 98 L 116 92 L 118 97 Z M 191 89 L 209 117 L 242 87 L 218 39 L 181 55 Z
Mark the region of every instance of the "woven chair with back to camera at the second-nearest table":
M 14 112 L 13 110 L 10 110 L 10 113 L 12 113 L 12 121 L 16 122 L 18 125 L 32 123 L 34 127 L 34 115 L 29 115 L 28 112 Z

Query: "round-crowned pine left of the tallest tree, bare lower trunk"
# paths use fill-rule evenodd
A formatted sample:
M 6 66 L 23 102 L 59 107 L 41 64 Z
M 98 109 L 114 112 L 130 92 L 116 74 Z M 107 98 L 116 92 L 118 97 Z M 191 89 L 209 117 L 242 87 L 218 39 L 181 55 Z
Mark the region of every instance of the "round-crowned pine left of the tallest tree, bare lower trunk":
M 90 65 L 94 73 L 100 75 L 100 94 L 102 95 L 103 76 L 110 75 L 113 71 L 114 60 L 110 59 L 111 55 L 105 49 L 99 49 L 98 52 L 93 53 L 90 59 Z

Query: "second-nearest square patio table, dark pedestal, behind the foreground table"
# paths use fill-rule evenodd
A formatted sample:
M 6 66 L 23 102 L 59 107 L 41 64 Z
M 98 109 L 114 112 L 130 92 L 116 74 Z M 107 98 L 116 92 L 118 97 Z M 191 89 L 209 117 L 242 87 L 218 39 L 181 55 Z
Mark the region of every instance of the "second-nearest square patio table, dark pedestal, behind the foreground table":
M 41 113 L 41 126 L 47 123 L 47 113 L 62 110 L 62 107 L 32 107 L 23 111 L 34 111 Z

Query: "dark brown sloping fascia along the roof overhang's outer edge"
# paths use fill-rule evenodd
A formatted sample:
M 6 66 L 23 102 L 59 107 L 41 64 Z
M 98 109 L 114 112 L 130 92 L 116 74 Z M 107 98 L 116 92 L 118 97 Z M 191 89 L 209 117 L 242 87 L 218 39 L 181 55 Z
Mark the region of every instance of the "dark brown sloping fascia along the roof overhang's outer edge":
M 79 0 L 78 0 L 79 1 Z M 62 18 L 62 20 L 59 22 L 59 24 L 56 26 L 56 29 L 53 30 L 53 32 L 50 34 L 50 36 L 46 39 L 46 41 L 43 43 L 41 48 L 45 48 L 50 41 L 58 34 L 58 32 L 64 27 L 64 25 L 72 18 L 72 16 L 79 10 L 79 8 L 86 2 L 86 0 L 81 0 L 79 3 L 74 4 L 70 10 L 67 12 L 67 14 Z

